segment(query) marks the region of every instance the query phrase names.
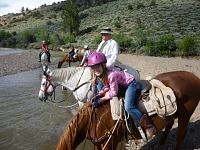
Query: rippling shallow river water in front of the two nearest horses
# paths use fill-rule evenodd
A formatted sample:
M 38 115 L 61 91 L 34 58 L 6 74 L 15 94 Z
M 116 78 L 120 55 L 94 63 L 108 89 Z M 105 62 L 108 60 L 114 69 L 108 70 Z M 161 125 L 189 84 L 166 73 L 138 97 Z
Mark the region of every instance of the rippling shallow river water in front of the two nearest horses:
M 39 68 L 0 77 L 0 150 L 53 150 L 72 117 L 75 109 L 53 107 L 38 99 L 41 76 Z M 56 99 L 70 99 L 62 105 L 77 102 L 69 96 L 56 88 Z M 90 145 L 84 149 L 91 149 Z

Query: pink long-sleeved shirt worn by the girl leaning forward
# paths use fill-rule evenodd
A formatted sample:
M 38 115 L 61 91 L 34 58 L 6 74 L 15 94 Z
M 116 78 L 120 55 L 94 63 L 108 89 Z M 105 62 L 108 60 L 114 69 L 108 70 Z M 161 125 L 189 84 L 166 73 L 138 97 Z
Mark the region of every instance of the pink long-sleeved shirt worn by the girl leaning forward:
M 116 96 L 118 93 L 118 85 L 127 87 L 133 80 L 134 76 L 125 71 L 121 71 L 115 67 L 108 68 L 108 82 L 102 89 L 104 92 L 106 92 L 104 98 L 109 100 Z

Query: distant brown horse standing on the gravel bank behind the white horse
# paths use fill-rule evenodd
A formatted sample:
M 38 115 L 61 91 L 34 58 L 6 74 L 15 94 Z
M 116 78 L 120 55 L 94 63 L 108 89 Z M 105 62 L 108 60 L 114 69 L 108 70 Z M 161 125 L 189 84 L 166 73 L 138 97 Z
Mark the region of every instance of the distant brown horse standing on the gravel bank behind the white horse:
M 71 66 L 71 62 L 81 62 L 83 59 L 83 54 L 78 53 L 76 58 L 73 58 L 73 60 L 70 60 L 69 55 L 65 55 L 63 58 L 61 58 L 58 62 L 58 68 L 61 68 L 62 64 L 66 61 L 68 62 L 68 66 Z

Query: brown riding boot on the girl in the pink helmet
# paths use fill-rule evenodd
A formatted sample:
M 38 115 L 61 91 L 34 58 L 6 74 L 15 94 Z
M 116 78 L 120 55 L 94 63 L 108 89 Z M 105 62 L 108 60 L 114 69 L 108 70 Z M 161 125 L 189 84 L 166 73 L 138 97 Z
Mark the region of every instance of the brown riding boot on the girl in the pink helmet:
M 146 131 L 147 139 L 151 139 L 152 136 L 156 133 L 156 128 L 150 123 L 147 115 L 143 115 L 140 119 L 140 125 Z

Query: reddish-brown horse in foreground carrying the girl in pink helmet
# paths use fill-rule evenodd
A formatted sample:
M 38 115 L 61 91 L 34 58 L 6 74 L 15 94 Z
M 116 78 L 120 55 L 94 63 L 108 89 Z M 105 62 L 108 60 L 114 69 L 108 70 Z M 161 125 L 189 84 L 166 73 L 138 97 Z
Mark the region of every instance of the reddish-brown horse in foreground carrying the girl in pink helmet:
M 175 71 L 162 73 L 155 79 L 163 82 L 167 87 L 171 87 L 177 100 L 177 111 L 175 114 L 164 118 L 158 115 L 149 117 L 151 122 L 161 131 L 165 128 L 161 140 L 155 148 L 161 148 L 174 124 L 174 119 L 178 118 L 178 135 L 175 149 L 181 149 L 181 144 L 186 135 L 186 129 L 200 100 L 200 79 L 190 72 Z M 123 140 L 126 128 L 123 122 L 112 120 L 110 113 L 110 103 L 104 103 L 99 108 L 91 108 L 90 104 L 84 105 L 75 116 L 69 121 L 62 134 L 56 150 L 74 150 L 84 139 L 91 140 L 96 149 L 105 150 L 116 149 L 117 143 Z M 110 139 L 109 139 L 110 137 Z M 133 127 L 133 139 L 141 139 L 141 136 Z

